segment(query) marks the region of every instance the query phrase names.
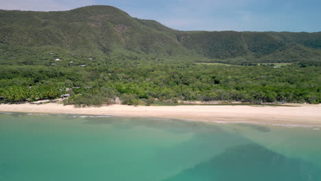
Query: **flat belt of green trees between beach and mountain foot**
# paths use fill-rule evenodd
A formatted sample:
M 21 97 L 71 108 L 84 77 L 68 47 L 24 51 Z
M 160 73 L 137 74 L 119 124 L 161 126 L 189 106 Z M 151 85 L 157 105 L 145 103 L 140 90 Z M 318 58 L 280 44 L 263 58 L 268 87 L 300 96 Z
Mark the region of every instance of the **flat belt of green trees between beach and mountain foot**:
M 1 66 L 2 103 L 55 99 L 90 106 L 166 101 L 321 102 L 321 67 L 292 64 L 224 66 L 190 62 L 120 61 L 97 67 Z

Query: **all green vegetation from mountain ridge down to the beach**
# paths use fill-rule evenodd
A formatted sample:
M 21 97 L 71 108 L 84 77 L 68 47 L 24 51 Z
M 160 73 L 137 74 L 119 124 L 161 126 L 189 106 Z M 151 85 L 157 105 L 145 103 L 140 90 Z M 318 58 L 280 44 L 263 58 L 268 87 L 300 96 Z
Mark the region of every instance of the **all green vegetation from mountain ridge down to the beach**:
M 106 5 L 0 10 L 0 72 L 2 103 L 318 104 L 321 32 L 182 32 Z

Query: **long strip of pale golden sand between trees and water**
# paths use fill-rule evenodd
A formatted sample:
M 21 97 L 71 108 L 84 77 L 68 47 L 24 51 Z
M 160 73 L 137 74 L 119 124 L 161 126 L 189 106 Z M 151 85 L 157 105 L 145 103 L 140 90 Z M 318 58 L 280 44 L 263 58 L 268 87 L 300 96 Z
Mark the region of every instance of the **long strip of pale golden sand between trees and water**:
M 75 108 L 62 104 L 0 104 L 0 112 L 87 114 L 119 117 L 154 117 L 213 121 L 216 123 L 267 123 L 321 126 L 321 104 L 295 106 L 126 106 Z

